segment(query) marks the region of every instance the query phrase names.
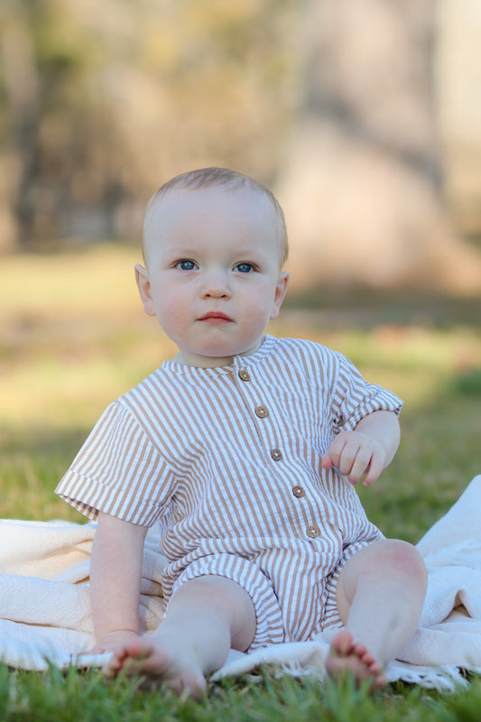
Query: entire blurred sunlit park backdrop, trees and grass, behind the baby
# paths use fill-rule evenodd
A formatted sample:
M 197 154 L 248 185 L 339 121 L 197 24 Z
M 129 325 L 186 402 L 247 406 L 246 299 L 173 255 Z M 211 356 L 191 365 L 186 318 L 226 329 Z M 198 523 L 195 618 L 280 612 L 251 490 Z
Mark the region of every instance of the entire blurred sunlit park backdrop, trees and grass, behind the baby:
M 452 501 L 481 468 L 480 48 L 479 0 L 2 0 L 0 515 L 70 514 L 57 478 L 172 353 L 134 288 L 143 208 L 206 165 L 282 202 L 273 331 L 401 393 L 387 486 L 422 467 Z

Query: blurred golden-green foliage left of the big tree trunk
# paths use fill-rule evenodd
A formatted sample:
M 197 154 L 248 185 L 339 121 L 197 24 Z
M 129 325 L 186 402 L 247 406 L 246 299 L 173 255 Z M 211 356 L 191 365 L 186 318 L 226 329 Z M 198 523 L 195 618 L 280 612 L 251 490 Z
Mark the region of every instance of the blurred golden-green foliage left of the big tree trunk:
M 294 12 L 292 0 L 5 0 L 4 245 L 8 231 L 37 247 L 138 236 L 153 190 L 201 164 L 272 180 Z

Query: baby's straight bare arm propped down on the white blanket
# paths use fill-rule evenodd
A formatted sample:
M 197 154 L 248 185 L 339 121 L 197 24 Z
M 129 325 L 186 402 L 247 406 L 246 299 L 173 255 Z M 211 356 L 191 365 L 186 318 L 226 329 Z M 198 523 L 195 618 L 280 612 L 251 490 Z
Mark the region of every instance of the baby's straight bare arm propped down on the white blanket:
M 90 596 L 97 644 L 112 652 L 139 636 L 139 595 L 147 527 L 100 513 L 92 548 Z

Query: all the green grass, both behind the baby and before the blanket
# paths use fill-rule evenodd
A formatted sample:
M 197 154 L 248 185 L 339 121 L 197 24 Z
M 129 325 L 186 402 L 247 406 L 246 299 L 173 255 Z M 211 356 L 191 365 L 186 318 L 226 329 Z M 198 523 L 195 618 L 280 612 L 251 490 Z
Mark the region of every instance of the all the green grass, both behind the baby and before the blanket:
M 106 404 L 173 352 L 137 300 L 138 260 L 137 250 L 109 245 L 0 258 L 0 517 L 84 521 L 53 494 L 57 481 Z M 402 396 L 402 446 L 375 486 L 359 493 L 387 535 L 417 542 L 481 473 L 481 314 L 472 312 L 479 300 L 439 306 L 416 305 L 412 296 L 356 296 L 353 308 L 348 301 L 340 310 L 332 300 L 306 310 L 293 299 L 270 330 L 337 348 L 369 380 Z M 197 703 L 140 690 L 137 681 L 106 684 L 96 671 L 0 666 L 0 722 L 450 722 L 477 720 L 480 707 L 477 678 L 452 695 L 397 684 L 371 698 L 271 670 L 212 684 Z

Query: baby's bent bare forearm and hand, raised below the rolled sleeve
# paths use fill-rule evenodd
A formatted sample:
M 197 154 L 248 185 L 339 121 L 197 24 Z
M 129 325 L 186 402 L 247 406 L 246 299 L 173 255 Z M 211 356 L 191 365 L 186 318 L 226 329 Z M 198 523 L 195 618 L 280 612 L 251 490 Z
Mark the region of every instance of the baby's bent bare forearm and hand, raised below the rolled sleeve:
M 373 484 L 393 460 L 400 440 L 394 412 L 373 412 L 361 419 L 354 431 L 341 431 L 322 458 L 322 468 L 337 467 L 356 484 Z

